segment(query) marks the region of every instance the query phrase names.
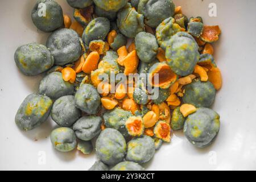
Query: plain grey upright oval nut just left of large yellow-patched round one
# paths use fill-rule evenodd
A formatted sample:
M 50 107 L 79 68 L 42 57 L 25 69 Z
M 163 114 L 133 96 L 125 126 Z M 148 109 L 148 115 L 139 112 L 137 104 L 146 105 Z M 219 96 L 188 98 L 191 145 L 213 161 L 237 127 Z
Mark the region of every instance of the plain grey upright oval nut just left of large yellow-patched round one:
M 158 42 L 154 35 L 147 32 L 139 32 L 135 36 L 135 46 L 141 61 L 150 63 L 155 60 L 158 53 Z

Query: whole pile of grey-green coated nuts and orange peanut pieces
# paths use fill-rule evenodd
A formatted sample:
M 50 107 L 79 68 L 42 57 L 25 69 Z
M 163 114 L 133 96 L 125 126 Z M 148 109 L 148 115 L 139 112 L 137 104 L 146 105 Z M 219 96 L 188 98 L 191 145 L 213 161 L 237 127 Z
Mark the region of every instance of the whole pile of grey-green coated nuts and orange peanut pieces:
M 183 130 L 196 147 L 213 142 L 220 116 L 208 107 L 222 85 L 211 44 L 221 34 L 218 26 L 188 19 L 171 0 L 67 2 L 73 21 L 57 2 L 39 0 L 32 20 L 52 34 L 46 46 L 30 43 L 15 52 L 24 75 L 45 74 L 38 93 L 18 109 L 21 130 L 35 129 L 51 115 L 60 126 L 51 133 L 53 147 L 90 154 L 97 138 L 99 160 L 90 170 L 104 171 L 143 170 L 140 164 L 170 142 L 174 130 Z M 147 73 L 158 97 L 150 99 L 147 85 L 134 80 L 116 81 L 109 93 L 112 85 L 101 76 L 118 73 Z

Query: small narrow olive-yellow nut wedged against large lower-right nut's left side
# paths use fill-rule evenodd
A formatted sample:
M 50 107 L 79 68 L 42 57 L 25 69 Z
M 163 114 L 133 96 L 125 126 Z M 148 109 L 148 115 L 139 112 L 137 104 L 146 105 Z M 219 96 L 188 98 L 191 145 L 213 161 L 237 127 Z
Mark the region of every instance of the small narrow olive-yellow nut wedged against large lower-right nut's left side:
M 176 107 L 172 112 L 171 128 L 172 130 L 183 129 L 185 118 L 180 113 L 180 107 Z

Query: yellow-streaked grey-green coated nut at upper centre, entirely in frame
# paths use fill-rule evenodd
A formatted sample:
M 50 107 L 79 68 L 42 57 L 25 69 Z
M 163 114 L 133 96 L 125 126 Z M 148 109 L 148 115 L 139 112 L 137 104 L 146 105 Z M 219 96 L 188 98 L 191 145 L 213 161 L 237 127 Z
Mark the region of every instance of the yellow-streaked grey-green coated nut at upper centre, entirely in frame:
M 144 31 L 144 16 L 138 14 L 130 3 L 117 14 L 117 26 L 127 38 L 134 38 L 139 32 Z

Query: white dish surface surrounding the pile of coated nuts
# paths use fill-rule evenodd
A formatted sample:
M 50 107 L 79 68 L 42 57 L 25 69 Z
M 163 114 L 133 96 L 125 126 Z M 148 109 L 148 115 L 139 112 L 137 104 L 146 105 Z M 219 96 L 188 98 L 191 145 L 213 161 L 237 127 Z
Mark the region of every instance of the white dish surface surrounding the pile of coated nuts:
M 72 9 L 58 1 L 65 14 Z M 203 150 L 193 147 L 182 132 L 175 132 L 145 167 L 149 170 L 256 169 L 256 1 L 174 0 L 183 13 L 202 16 L 205 24 L 219 24 L 220 40 L 214 44 L 214 58 L 223 76 L 213 109 L 221 115 L 215 142 Z M 217 16 L 209 16 L 209 4 Z M 26 77 L 16 68 L 15 49 L 30 42 L 46 43 L 49 34 L 38 31 L 31 20 L 35 1 L 0 1 L 0 169 L 87 170 L 95 154 L 60 153 L 49 140 L 55 123 L 48 119 L 41 127 L 23 133 L 14 122 L 24 98 L 38 89 L 41 76 Z

